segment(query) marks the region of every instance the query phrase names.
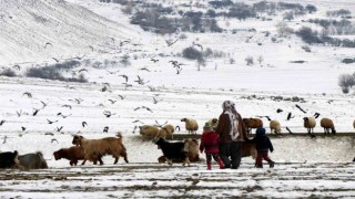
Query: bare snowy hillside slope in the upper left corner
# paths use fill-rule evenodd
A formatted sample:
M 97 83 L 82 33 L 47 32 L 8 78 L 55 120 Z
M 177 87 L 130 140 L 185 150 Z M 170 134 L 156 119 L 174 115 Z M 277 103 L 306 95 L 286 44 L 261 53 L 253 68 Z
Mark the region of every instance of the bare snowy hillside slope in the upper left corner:
M 44 61 L 119 51 L 138 40 L 132 29 L 65 1 L 1 0 L 0 64 Z

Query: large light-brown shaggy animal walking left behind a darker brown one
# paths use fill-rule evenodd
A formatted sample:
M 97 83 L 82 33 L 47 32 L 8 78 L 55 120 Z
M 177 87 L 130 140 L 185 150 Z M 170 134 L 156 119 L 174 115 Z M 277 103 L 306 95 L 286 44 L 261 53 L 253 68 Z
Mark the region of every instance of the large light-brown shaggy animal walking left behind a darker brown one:
M 126 149 L 122 144 L 122 136 L 121 134 L 116 134 L 116 136 L 118 137 L 105 137 L 101 139 L 87 139 L 83 136 L 75 135 L 72 144 L 84 148 L 84 159 L 98 159 L 100 165 L 103 165 L 101 157 L 104 155 L 112 155 L 115 158 L 113 164 L 119 161 L 120 156 L 124 158 L 125 163 L 129 163 Z

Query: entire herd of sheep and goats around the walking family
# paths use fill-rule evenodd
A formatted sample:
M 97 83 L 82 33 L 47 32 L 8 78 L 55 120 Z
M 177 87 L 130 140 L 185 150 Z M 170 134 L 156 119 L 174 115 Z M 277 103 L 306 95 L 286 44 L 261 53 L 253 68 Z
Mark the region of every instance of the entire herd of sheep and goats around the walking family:
M 314 117 L 304 117 L 304 127 L 307 133 L 314 133 L 313 128 L 316 125 Z M 199 124 L 192 118 L 182 118 L 181 122 L 185 123 L 185 129 L 189 134 L 196 134 Z M 243 118 L 247 134 L 252 128 L 263 127 L 263 122 L 260 118 Z M 217 126 L 217 118 L 212 118 L 207 123 L 212 127 Z M 334 123 L 331 118 L 322 118 L 321 126 L 324 128 L 324 134 L 336 133 Z M 353 122 L 355 128 L 355 121 Z M 281 125 L 277 121 L 270 121 L 270 128 L 272 133 L 281 134 Z M 143 137 L 154 138 L 155 144 L 162 150 L 163 156 L 158 158 L 159 163 L 182 163 L 184 166 L 190 166 L 190 163 L 200 161 L 199 157 L 199 140 L 196 138 L 187 138 L 183 142 L 168 142 L 166 138 L 173 138 L 175 127 L 166 124 L 162 127 L 153 125 L 140 126 L 140 134 Z M 122 135 L 119 133 L 115 137 L 104 137 L 101 139 L 88 139 L 80 135 L 74 135 L 72 140 L 73 146 L 69 148 L 61 148 L 53 153 L 55 160 L 61 158 L 68 159 L 70 166 L 77 166 L 79 160 L 92 161 L 94 165 L 100 163 L 103 165 L 102 157 L 111 155 L 114 158 L 113 164 L 118 164 L 119 158 L 123 157 L 125 163 L 128 160 L 128 151 L 123 145 Z M 245 143 L 242 148 L 242 157 L 252 156 L 256 157 L 255 145 Z M 353 159 L 355 161 L 355 158 Z M 14 151 L 0 153 L 0 168 L 20 168 L 20 169 L 44 169 L 48 168 L 42 153 L 37 151 L 32 154 L 19 155 Z

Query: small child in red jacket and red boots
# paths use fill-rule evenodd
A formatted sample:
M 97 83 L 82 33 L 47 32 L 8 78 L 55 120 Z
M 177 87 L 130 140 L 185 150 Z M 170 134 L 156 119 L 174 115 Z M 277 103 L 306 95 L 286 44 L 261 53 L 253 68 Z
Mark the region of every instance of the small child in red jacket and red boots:
M 223 161 L 220 157 L 220 136 L 212 128 L 210 123 L 203 126 L 203 134 L 201 136 L 200 151 L 206 154 L 207 170 L 211 170 L 211 161 L 213 159 L 219 163 L 220 169 L 224 168 Z

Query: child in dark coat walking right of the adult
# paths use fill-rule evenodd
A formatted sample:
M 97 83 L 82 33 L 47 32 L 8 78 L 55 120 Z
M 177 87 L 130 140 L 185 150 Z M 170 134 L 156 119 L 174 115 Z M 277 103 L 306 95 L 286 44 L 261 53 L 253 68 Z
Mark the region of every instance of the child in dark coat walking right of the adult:
M 273 153 L 274 147 L 265 133 L 266 133 L 265 128 L 263 127 L 256 128 L 255 137 L 248 140 L 251 143 L 255 143 L 255 147 L 257 150 L 256 160 L 255 160 L 256 168 L 263 168 L 263 159 L 265 159 L 268 163 L 270 168 L 273 168 L 275 164 L 268 157 L 268 149 L 271 153 Z

